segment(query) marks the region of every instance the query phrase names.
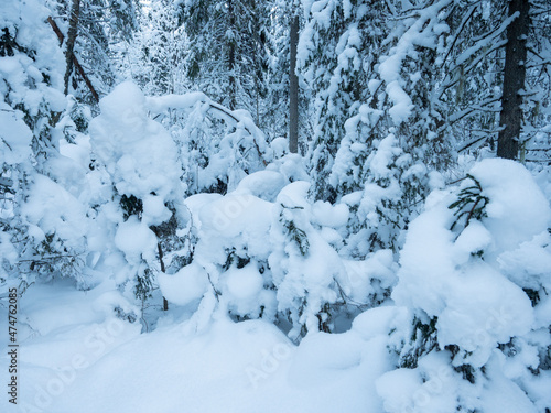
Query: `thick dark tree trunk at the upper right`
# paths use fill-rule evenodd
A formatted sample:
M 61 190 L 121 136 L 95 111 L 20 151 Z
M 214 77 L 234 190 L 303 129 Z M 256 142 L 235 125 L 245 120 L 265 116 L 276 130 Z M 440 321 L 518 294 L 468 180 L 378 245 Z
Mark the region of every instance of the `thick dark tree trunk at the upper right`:
M 529 0 L 511 0 L 509 17 L 518 17 L 507 28 L 507 45 L 505 48 L 504 93 L 501 96 L 501 115 L 497 140 L 497 155 L 515 160 L 518 157 L 520 128 L 522 126 L 522 95 L 526 78 L 526 42 L 530 20 Z

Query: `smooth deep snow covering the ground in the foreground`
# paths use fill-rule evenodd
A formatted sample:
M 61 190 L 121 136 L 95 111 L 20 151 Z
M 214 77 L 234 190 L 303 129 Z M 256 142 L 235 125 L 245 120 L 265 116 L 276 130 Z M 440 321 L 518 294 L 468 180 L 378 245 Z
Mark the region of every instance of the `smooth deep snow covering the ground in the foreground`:
M 217 316 L 193 332 L 171 315 L 140 334 L 139 322 L 104 312 L 101 303 L 116 297 L 107 285 L 29 290 L 20 301 L 19 405 L 2 405 L 48 413 L 381 411 L 374 381 L 390 366 L 377 335 L 318 333 L 296 347 L 262 320 Z M 6 351 L 1 360 L 6 373 Z

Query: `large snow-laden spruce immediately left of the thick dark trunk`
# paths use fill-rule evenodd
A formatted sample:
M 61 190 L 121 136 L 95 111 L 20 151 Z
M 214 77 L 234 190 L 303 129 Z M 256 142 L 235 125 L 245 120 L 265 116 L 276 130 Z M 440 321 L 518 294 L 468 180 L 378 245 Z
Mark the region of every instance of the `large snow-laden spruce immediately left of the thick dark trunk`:
M 357 213 L 348 253 L 399 247 L 421 199 L 442 183 L 432 171 L 454 165 L 455 142 L 473 149 L 495 130 L 500 77 L 490 68 L 499 67 L 499 39 L 510 22 L 495 18 L 500 10 L 493 2 L 386 3 L 367 98 L 345 124 L 329 176 Z

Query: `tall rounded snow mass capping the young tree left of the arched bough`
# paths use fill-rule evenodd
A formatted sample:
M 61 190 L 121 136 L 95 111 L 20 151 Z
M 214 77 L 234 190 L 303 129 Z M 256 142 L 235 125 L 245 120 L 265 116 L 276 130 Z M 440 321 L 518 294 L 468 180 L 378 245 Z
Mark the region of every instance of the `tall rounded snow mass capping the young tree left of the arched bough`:
M 181 196 L 176 145 L 160 123 L 149 119 L 138 86 L 118 85 L 99 107 L 101 115 L 89 124 L 90 143 L 119 194 L 143 199 L 154 193 L 163 200 Z

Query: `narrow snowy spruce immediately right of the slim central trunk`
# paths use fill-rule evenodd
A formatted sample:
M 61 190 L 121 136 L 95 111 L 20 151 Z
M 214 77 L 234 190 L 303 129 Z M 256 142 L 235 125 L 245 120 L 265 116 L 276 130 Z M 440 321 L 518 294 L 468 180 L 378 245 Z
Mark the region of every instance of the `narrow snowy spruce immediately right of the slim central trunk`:
M 371 53 L 379 28 L 377 7 L 339 1 L 303 4 L 305 26 L 299 42 L 298 63 L 313 102 L 313 138 L 310 148 L 312 193 L 335 202 L 342 195 L 328 181 L 345 134 L 345 121 L 365 99 Z M 366 67 L 367 66 L 367 67 Z

